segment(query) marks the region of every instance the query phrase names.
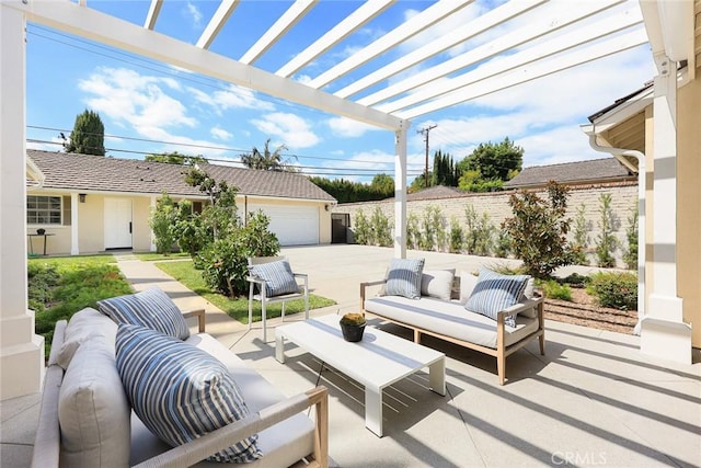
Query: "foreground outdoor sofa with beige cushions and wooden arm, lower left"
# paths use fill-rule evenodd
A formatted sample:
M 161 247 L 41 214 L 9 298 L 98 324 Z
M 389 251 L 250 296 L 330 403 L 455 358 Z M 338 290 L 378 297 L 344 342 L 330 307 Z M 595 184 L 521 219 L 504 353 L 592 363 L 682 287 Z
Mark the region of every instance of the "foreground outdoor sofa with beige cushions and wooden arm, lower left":
M 138 297 L 139 294 L 131 296 Z M 160 294 L 164 295 L 162 292 Z M 227 466 L 217 463 L 222 460 L 221 454 L 228 456 L 232 448 L 241 446 L 248 450 L 246 455 L 255 455 L 252 463 L 246 463 L 249 467 L 326 467 L 327 390 L 320 386 L 286 398 L 235 354 L 205 333 L 204 310 L 181 313 L 179 319 L 186 323 L 187 318 L 198 320 L 199 333 L 184 340 L 166 336 L 161 333 L 162 330 L 154 331 L 136 324 L 117 326 L 114 318 L 92 308 L 77 312 L 68 323 L 65 320 L 57 322 L 42 395 L 32 466 L 221 467 Z M 181 327 L 183 333 L 189 334 L 188 330 L 183 332 Z M 124 336 L 134 340 L 129 342 Z M 146 386 L 140 387 L 140 396 L 130 393 L 133 381 L 125 380 L 130 377 L 125 377 L 128 367 L 123 363 L 140 358 L 129 353 L 137 354 L 139 346 L 148 349 L 154 346 L 153 343 L 173 346 L 179 351 L 150 351 L 151 356 L 145 358 L 151 361 L 148 364 L 141 361 L 135 367 L 138 367 L 138 372 L 134 375 L 147 375 L 148 369 L 174 363 L 169 372 L 174 372 L 180 378 L 183 369 L 200 369 L 203 362 L 214 359 L 211 367 L 215 370 L 206 368 L 206 386 L 187 388 L 182 384 L 182 388 L 175 388 L 182 379 L 165 379 L 165 387 L 172 388 L 168 389 L 159 387 L 157 383 L 161 380 L 151 374 L 146 379 Z M 131 345 L 134 347 L 129 347 Z M 192 351 L 195 349 L 198 351 Z M 191 355 L 194 357 L 188 357 Z M 217 374 L 217 368 L 222 368 L 223 374 Z M 248 408 L 248 414 L 238 414 L 240 419 L 233 421 L 225 419 L 229 407 L 222 401 L 230 400 L 231 396 L 225 395 L 220 386 L 229 378 L 238 386 L 238 391 L 233 393 L 240 393 Z M 202 384 L 202 380 L 197 383 Z M 177 400 L 176 409 L 169 407 L 169 402 L 173 401 L 170 397 Z M 205 399 L 212 406 L 197 407 L 199 400 L 196 399 Z M 189 430 L 189 425 L 200 424 L 204 427 L 209 423 L 220 429 L 206 431 L 205 435 L 196 435 L 179 446 L 169 445 L 137 416 L 137 408 L 142 410 L 143 404 L 151 403 L 185 418 L 165 422 L 176 427 L 177 432 L 182 432 L 183 427 Z M 310 407 L 314 407 L 311 419 L 306 414 Z M 241 408 L 237 407 L 237 410 Z M 148 415 L 150 418 L 152 414 Z M 170 413 L 165 418 L 170 418 Z M 199 420 L 193 422 L 193 419 Z M 215 453 L 215 461 L 200 461 Z

